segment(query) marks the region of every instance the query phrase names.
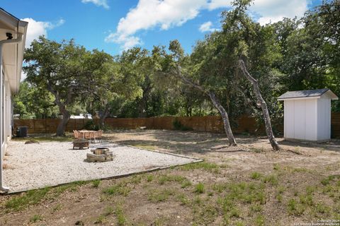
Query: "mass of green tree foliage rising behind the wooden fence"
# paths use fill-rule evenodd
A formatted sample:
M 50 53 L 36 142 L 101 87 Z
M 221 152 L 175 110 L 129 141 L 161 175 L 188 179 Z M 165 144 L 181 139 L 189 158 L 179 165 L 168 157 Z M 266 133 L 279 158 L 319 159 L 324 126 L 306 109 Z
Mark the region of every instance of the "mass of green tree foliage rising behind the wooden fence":
M 285 91 L 330 88 L 340 95 L 339 1 L 324 1 L 300 19 L 267 25 L 247 13 L 249 4 L 234 1 L 234 9 L 222 13 L 222 29 L 198 40 L 191 54 L 177 40 L 169 48 L 134 47 L 111 56 L 74 40 L 40 37 L 26 49 L 27 78 L 14 112 L 21 118 L 62 114 L 61 135 L 69 116 L 79 112 L 98 115 L 101 124 L 106 117 L 217 114 L 213 94 L 231 126 L 242 114 L 261 122 L 263 109 L 239 60 L 258 81 L 274 124 L 283 115 L 276 97 Z M 194 85 L 171 76 L 179 66 Z M 340 111 L 339 101 L 332 109 Z

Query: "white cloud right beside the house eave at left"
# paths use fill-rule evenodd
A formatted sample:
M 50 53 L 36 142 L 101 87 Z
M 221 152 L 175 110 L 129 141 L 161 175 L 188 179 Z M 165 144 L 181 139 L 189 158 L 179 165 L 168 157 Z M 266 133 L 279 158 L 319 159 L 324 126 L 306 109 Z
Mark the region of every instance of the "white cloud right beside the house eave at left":
M 45 35 L 47 37 L 47 30 L 52 30 L 65 23 L 65 20 L 63 19 L 58 20 L 56 23 L 35 21 L 33 18 L 24 18 L 21 20 L 28 22 L 26 48 L 30 47 L 30 43 L 33 42 L 33 40 L 38 39 L 40 35 Z

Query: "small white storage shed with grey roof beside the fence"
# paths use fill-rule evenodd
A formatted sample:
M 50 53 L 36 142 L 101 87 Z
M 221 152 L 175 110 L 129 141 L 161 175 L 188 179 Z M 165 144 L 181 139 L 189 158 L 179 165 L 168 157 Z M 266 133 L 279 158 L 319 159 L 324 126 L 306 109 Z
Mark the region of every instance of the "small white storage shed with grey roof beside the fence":
M 284 137 L 304 141 L 331 138 L 331 100 L 339 98 L 329 89 L 284 93 Z

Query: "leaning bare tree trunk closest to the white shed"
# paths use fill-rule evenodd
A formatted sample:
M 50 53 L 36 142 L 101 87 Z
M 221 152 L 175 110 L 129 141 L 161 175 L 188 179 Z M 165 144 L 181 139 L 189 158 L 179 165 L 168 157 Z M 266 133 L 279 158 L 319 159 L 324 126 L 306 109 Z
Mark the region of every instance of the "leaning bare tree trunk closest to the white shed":
M 266 133 L 268 136 L 268 140 L 271 143 L 271 147 L 273 148 L 273 150 L 280 150 L 280 146 L 278 145 L 278 142 L 276 141 L 276 138 L 273 134 L 273 129 L 271 128 L 271 117 L 268 112 L 267 104 L 262 98 L 261 91 L 259 88 L 259 83 L 255 78 L 253 78 L 250 75 L 248 70 L 246 70 L 246 66 L 242 59 L 239 60 L 239 67 L 241 68 L 241 71 L 246 77 L 246 79 L 248 79 L 254 87 L 257 102 L 259 103 L 259 105 L 261 105 L 261 109 L 263 112 L 263 119 L 264 119 L 264 123 L 266 124 Z

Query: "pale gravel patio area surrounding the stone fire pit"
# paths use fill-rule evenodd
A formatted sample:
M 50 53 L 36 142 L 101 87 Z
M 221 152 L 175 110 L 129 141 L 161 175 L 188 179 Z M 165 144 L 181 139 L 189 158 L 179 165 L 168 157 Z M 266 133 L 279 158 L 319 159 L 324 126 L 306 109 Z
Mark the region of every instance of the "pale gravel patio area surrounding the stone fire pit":
M 86 153 L 90 153 L 91 148 L 103 146 L 113 151 L 115 155 L 113 161 L 84 161 Z M 26 191 L 198 161 L 189 157 L 157 153 L 114 143 L 90 145 L 90 149 L 72 150 L 71 142 L 24 144 L 11 141 L 4 161 L 8 167 L 4 170 L 4 184 L 10 188 L 10 192 Z

